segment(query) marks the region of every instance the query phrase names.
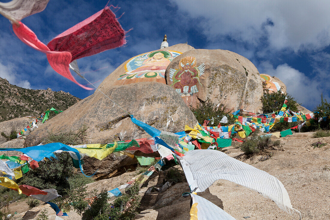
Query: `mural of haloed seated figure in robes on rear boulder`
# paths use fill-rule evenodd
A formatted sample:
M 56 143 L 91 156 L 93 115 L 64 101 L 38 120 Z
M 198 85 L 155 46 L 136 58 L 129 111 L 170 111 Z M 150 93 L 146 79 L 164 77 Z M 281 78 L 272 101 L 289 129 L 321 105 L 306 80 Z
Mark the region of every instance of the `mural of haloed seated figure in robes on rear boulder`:
M 170 62 L 182 53 L 178 51 L 155 51 L 137 55 L 125 64 L 126 73 L 120 75 L 117 84 L 144 81 L 165 82 L 165 70 Z

